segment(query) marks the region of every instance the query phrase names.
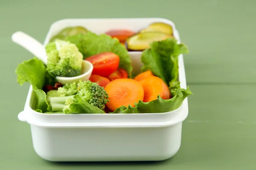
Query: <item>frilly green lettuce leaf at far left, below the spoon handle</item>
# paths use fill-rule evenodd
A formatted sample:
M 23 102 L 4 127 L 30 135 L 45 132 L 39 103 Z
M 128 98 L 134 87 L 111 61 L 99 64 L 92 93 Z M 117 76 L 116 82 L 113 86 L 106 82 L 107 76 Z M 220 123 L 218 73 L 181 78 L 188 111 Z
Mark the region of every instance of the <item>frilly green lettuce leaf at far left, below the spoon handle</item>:
M 25 82 L 32 85 L 35 94 L 34 110 L 40 113 L 51 111 L 46 94 L 41 90 L 45 83 L 54 83 L 54 79 L 47 75 L 46 66 L 36 57 L 23 61 L 15 70 L 17 82 L 22 86 Z

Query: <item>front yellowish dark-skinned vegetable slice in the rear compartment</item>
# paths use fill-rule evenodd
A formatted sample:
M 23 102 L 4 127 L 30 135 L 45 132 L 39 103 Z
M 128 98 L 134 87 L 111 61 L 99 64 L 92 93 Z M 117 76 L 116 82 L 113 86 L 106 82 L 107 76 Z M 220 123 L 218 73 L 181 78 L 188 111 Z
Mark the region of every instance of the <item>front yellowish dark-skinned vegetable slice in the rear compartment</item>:
M 150 48 L 151 42 L 157 42 L 160 40 L 166 40 L 167 38 L 173 37 L 169 34 L 164 34 L 162 32 L 145 32 L 138 33 L 126 40 L 126 46 L 130 51 L 143 51 Z

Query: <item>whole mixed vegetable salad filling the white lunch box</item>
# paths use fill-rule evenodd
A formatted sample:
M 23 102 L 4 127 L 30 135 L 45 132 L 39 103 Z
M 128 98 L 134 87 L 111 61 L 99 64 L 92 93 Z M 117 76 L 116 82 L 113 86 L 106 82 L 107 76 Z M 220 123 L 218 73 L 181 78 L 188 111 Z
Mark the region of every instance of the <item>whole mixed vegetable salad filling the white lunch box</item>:
M 34 57 L 15 70 L 20 85 L 32 85 L 32 109 L 40 113 L 163 113 L 179 108 L 192 95 L 177 79 L 178 56 L 188 49 L 177 44 L 172 27 L 164 23 L 152 23 L 138 34 L 112 30 L 97 35 L 69 27 L 45 49 L 47 65 Z M 138 75 L 132 75 L 129 49 L 143 51 Z M 66 85 L 56 80 L 80 75 L 83 60 L 93 65 L 89 80 Z

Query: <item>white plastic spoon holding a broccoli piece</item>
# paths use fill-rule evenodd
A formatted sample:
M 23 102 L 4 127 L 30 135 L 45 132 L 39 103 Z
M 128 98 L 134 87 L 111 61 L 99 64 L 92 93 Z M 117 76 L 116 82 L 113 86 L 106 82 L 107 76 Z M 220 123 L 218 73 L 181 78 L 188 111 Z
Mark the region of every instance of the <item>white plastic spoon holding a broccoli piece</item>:
M 29 52 L 31 52 L 33 55 L 35 55 L 38 59 L 40 59 L 42 62 L 44 62 L 45 65 L 47 65 L 47 55 L 44 48 L 44 45 L 35 40 L 33 37 L 30 37 L 28 34 L 25 34 L 21 31 L 17 31 L 14 34 L 12 34 L 12 41 L 16 44 L 22 46 Z M 79 82 L 81 79 L 82 81 L 87 81 L 90 79 L 90 76 L 93 71 L 93 65 L 92 63 L 83 60 L 82 62 L 82 74 L 80 76 L 76 77 L 56 77 L 57 81 L 61 83 L 62 85 L 65 85 L 67 83 L 71 82 Z

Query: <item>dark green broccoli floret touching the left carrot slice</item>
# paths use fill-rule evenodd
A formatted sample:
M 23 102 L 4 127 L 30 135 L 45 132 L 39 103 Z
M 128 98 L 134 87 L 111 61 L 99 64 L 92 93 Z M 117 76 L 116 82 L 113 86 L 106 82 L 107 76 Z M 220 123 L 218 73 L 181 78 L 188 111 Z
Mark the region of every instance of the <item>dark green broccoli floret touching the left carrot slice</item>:
M 77 95 L 89 104 L 105 109 L 105 104 L 109 101 L 108 94 L 103 87 L 99 86 L 96 82 L 81 81 L 78 83 L 79 92 Z

